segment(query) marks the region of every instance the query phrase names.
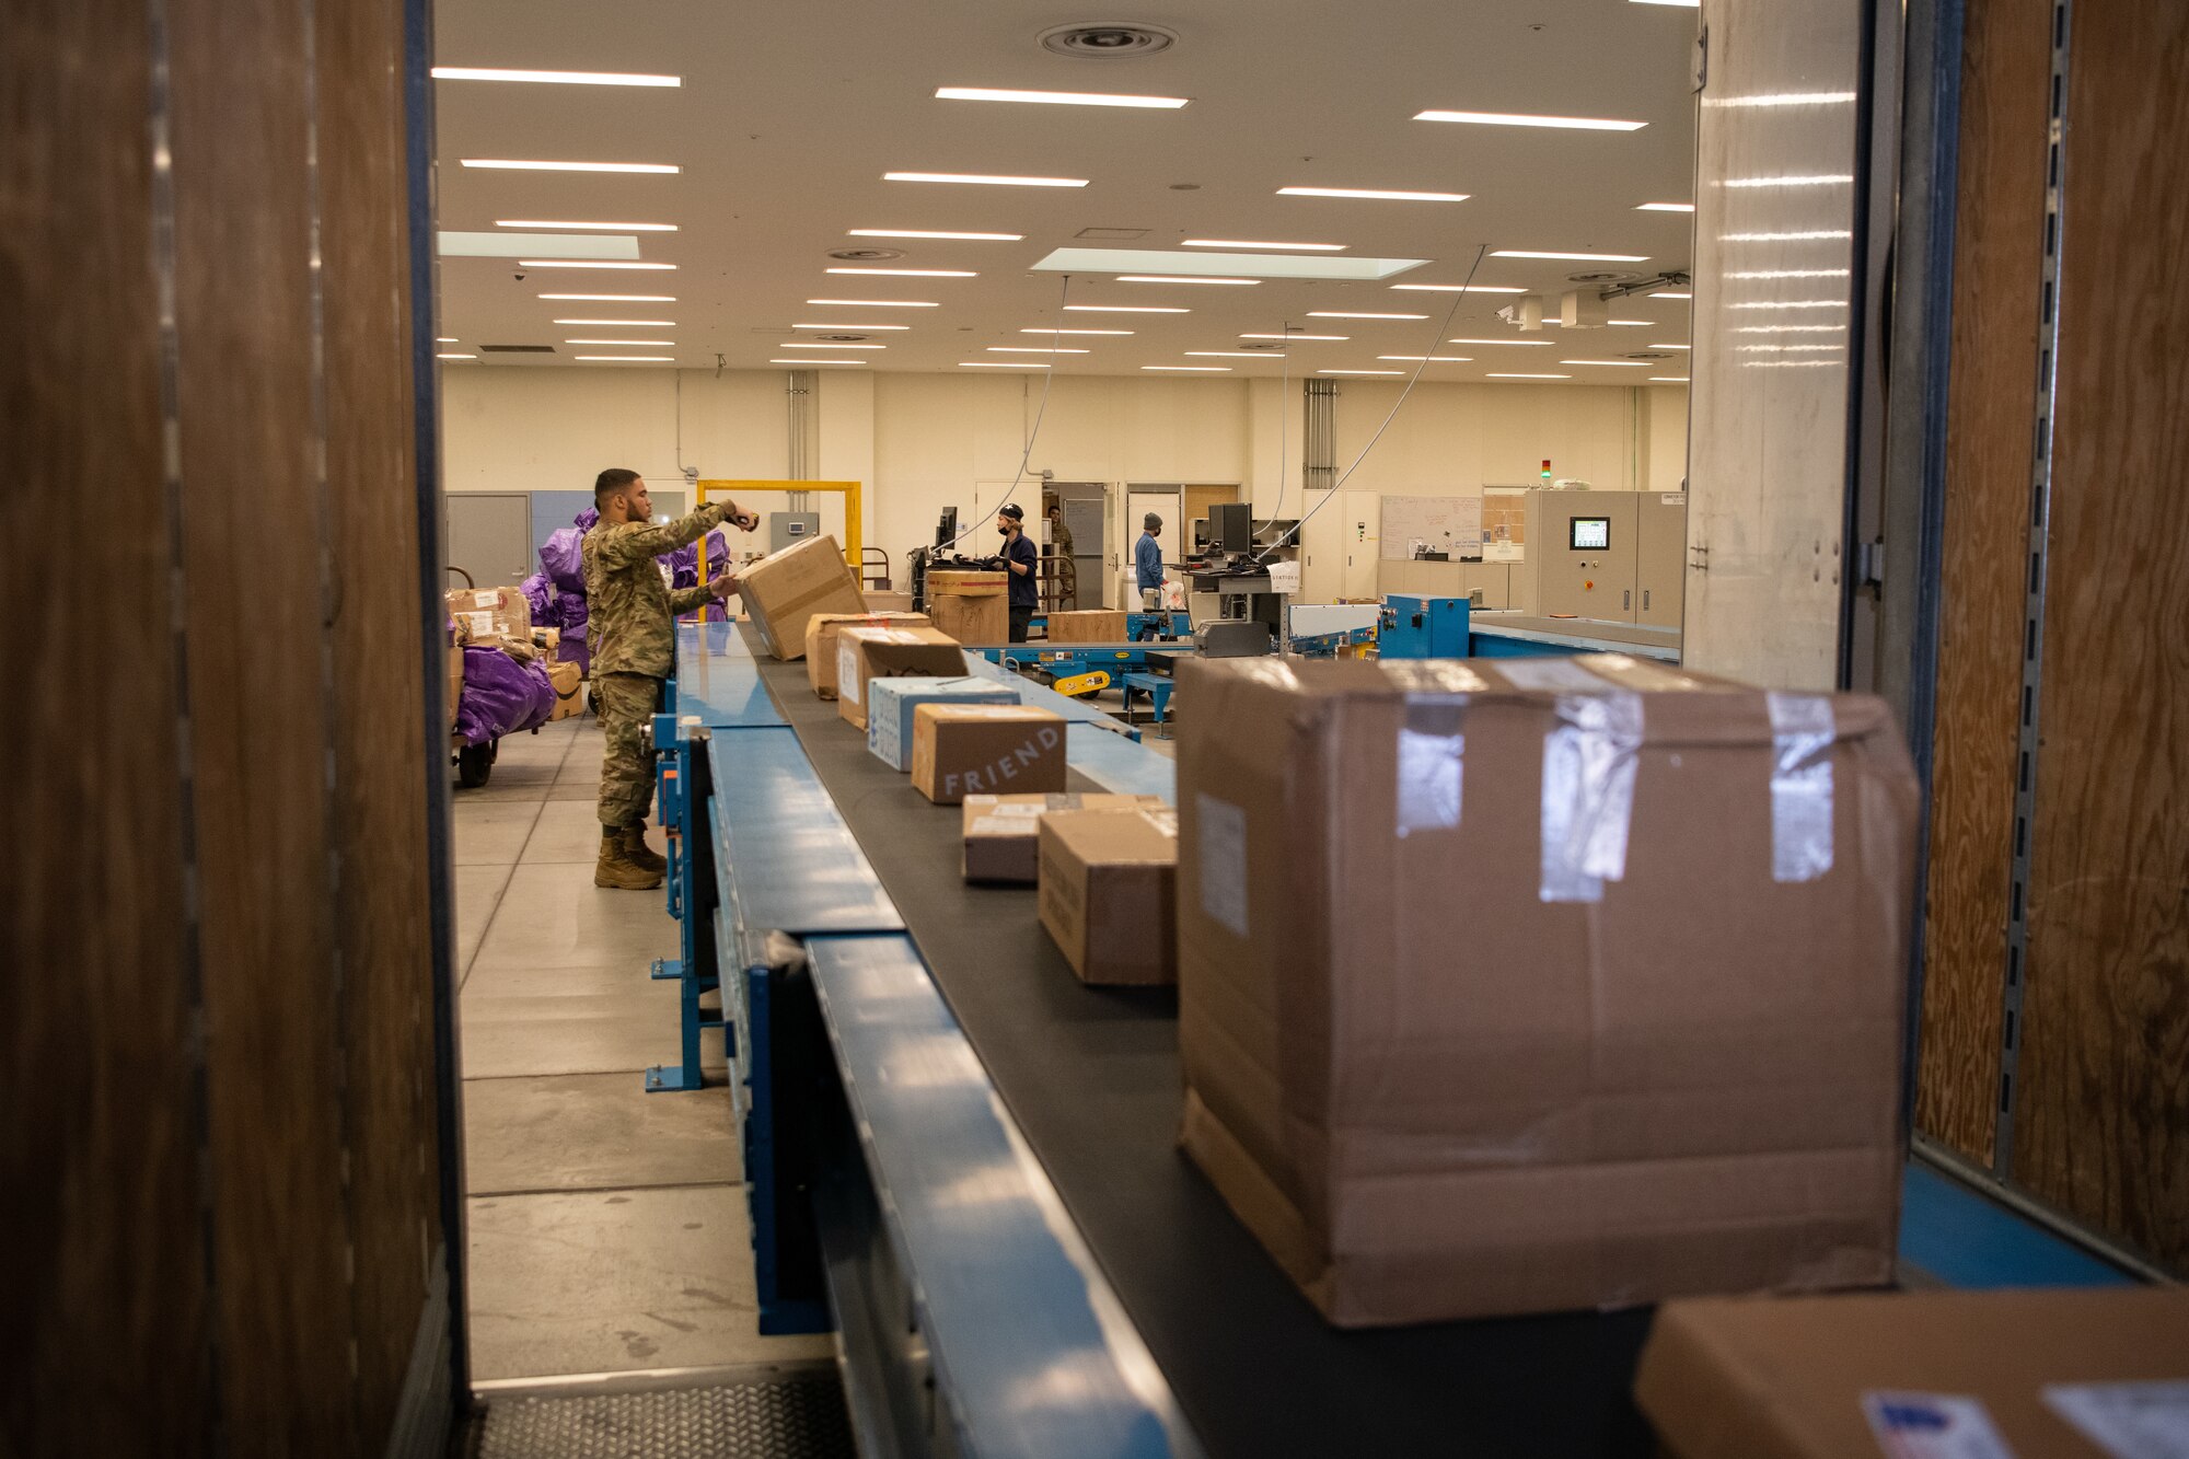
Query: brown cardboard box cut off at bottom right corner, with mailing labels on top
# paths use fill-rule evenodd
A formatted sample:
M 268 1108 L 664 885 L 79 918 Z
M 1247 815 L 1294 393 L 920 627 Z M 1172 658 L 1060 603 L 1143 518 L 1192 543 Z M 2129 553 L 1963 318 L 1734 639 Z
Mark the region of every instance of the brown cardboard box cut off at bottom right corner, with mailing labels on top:
M 2182 1452 L 2189 1415 L 2176 1400 L 2176 1448 L 2143 1450 L 2106 1450 L 2069 1415 L 2093 1400 L 2134 1398 L 2136 1385 L 2182 1380 L 2182 1288 L 1716 1299 L 1675 1301 L 1657 1314 L 1635 1400 L 1672 1459 L 1902 1452 L 1867 1417 L 1885 1395 L 1918 1420 L 1933 1409 L 1926 1400 L 1981 1404 L 2003 1448 L 1964 1444 L 1957 1455 L 2104 1459 Z M 1950 1417 L 1966 1422 L 1966 1406 Z

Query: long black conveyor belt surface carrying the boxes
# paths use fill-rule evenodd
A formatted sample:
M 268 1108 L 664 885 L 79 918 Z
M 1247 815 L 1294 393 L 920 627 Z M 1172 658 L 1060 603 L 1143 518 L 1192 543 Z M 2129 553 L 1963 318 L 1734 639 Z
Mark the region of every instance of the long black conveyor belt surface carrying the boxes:
M 961 813 L 755 659 L 1211 1455 L 1651 1452 L 1646 1312 L 1329 1328 L 1178 1154 L 1175 997 L 1079 986 L 1029 889 L 961 881 Z

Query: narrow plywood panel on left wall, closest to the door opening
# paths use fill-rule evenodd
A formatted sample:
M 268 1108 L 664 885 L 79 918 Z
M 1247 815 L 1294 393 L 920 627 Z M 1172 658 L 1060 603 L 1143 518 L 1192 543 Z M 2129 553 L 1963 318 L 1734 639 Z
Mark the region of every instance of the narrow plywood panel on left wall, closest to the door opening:
M 324 7 L 317 61 L 357 1409 L 381 1435 L 440 1242 L 401 0 Z

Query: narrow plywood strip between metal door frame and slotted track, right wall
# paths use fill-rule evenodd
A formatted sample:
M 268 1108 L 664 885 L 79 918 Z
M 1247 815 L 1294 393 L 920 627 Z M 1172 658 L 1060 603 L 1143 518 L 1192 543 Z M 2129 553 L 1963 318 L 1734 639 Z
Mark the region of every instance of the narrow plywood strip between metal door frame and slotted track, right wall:
M 1915 1128 L 1983 1165 L 1999 1119 L 2049 77 L 2049 7 L 1970 7 Z

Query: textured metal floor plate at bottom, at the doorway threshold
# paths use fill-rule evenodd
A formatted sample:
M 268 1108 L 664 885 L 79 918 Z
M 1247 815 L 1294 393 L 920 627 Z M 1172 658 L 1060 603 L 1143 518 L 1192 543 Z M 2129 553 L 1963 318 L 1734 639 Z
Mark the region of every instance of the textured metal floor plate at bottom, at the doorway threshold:
M 856 1459 L 834 1374 L 711 1389 L 501 1398 L 479 1459 Z

